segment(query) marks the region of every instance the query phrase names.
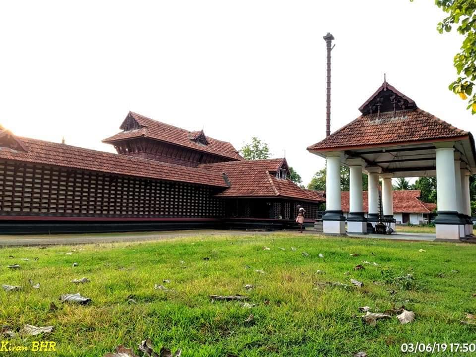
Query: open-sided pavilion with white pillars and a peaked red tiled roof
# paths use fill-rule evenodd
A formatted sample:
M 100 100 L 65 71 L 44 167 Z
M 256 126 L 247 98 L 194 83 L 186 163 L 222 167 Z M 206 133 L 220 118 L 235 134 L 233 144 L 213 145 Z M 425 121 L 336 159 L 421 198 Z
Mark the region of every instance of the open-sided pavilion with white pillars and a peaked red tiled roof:
M 431 177 L 437 181 L 436 239 L 472 235 L 470 181 L 476 173 L 473 135 L 419 109 L 414 100 L 386 81 L 359 108 L 361 115 L 311 145 L 308 151 L 326 159 L 328 234 L 364 234 L 378 221 L 382 179 L 383 217 L 393 219 L 392 178 Z M 341 206 L 340 167 L 350 167 L 349 216 Z M 368 175 L 368 217 L 362 202 L 362 172 Z

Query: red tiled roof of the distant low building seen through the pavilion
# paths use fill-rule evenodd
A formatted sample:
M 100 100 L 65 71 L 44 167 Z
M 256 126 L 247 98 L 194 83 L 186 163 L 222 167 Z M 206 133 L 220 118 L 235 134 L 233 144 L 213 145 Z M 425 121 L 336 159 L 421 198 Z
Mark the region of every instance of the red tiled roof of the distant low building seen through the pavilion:
M 434 205 L 434 203 L 423 203 L 420 197 L 420 190 L 394 190 L 393 193 L 393 211 L 402 213 L 431 213 L 433 209 L 429 209 L 426 205 Z M 368 192 L 362 192 L 363 211 L 368 212 Z M 349 212 L 349 191 L 341 192 L 342 211 Z

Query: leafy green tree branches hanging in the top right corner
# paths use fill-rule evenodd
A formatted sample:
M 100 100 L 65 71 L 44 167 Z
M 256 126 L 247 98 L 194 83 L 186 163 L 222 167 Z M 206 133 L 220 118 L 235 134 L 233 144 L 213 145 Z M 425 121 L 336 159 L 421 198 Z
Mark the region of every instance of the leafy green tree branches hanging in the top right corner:
M 453 26 L 463 36 L 461 51 L 453 59 L 458 78 L 449 89 L 466 100 L 472 114 L 476 113 L 476 1 L 475 0 L 435 0 L 448 16 L 438 23 L 437 30 L 450 32 Z M 474 94 L 473 94 L 474 93 Z

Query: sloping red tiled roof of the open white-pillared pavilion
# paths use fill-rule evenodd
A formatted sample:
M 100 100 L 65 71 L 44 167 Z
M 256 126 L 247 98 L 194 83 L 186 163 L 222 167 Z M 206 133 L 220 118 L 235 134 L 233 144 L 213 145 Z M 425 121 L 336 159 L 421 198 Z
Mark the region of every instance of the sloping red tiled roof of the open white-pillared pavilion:
M 412 143 L 433 139 L 456 138 L 468 135 L 467 131 L 436 118 L 421 109 L 361 115 L 333 132 L 324 140 L 311 145 L 309 151 L 377 146 L 390 143 Z

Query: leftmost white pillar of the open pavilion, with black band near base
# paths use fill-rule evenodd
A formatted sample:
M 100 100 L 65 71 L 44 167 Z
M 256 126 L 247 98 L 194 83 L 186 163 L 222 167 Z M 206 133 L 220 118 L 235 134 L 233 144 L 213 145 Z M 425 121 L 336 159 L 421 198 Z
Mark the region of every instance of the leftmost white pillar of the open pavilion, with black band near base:
M 324 233 L 345 234 L 346 222 L 341 205 L 341 153 L 326 156 L 326 214 L 322 217 Z

